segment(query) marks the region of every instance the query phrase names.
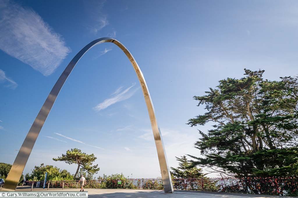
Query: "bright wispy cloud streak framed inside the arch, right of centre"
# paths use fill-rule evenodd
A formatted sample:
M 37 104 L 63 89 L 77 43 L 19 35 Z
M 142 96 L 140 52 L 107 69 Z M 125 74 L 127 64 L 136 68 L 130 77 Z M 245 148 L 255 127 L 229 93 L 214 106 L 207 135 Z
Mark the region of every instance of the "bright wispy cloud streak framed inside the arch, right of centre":
M 134 84 L 135 85 L 135 84 Z M 126 99 L 129 99 L 131 96 L 134 95 L 134 93 L 136 93 L 137 89 L 134 89 L 134 90 L 131 90 L 132 87 L 134 87 L 134 85 L 128 87 L 127 89 L 125 89 L 124 91 L 122 91 L 120 93 L 120 91 L 115 94 L 114 97 L 111 97 L 111 98 L 108 98 L 108 99 L 105 99 L 102 103 L 100 104 L 97 104 L 96 107 L 93 107 L 94 110 L 97 110 L 97 111 L 100 111 L 100 110 L 103 110 L 109 106 L 111 106 L 112 104 L 115 104 L 117 102 L 120 102 L 122 100 L 126 100 Z M 119 89 L 119 88 L 118 88 Z M 117 90 L 118 90 L 117 89 Z M 117 92 L 117 90 L 115 92 Z M 114 93 L 115 93 L 114 92 Z

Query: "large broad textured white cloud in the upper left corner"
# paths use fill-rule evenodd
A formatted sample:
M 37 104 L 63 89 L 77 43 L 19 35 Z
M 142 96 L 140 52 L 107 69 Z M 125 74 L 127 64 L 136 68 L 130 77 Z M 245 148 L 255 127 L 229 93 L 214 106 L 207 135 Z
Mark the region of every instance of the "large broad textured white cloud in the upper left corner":
M 0 49 L 47 76 L 70 52 L 63 38 L 32 9 L 0 4 Z

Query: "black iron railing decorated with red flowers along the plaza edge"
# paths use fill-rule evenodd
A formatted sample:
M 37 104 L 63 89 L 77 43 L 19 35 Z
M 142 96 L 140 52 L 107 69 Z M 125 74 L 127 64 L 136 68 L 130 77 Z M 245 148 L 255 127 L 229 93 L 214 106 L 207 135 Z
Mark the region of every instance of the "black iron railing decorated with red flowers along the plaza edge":
M 88 180 L 84 188 L 163 189 L 160 178 L 127 178 L 124 180 Z M 298 178 L 175 178 L 175 190 L 234 192 L 298 196 Z M 24 185 L 41 188 L 44 182 L 27 181 Z M 78 181 L 47 181 L 46 188 L 80 188 Z

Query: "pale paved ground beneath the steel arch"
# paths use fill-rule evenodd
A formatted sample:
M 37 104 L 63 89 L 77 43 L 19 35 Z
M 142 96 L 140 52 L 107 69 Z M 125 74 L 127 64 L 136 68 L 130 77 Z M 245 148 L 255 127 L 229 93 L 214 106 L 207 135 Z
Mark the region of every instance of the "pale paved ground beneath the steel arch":
M 28 187 L 18 188 L 16 191 L 30 191 Z M 33 191 L 47 191 L 46 189 L 35 188 Z M 49 189 L 49 191 L 79 191 L 79 189 Z M 249 194 L 233 194 L 233 193 L 218 193 L 218 192 L 190 192 L 190 191 L 175 191 L 173 194 L 164 193 L 163 190 L 143 190 L 143 189 L 85 189 L 88 191 L 88 197 L 113 197 L 113 198 L 276 198 L 280 196 L 270 195 L 249 195 Z M 288 197 L 290 198 L 290 197 Z

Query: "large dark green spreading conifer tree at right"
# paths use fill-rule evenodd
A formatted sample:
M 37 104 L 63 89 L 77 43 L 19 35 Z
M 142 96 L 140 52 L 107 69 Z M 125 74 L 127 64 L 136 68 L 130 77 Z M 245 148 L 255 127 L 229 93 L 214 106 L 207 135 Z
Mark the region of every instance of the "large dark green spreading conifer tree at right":
M 264 70 L 244 71 L 194 96 L 207 112 L 188 124 L 212 122 L 214 129 L 199 131 L 195 147 L 204 158 L 191 156 L 193 165 L 238 177 L 297 174 L 298 77 L 269 81 Z

